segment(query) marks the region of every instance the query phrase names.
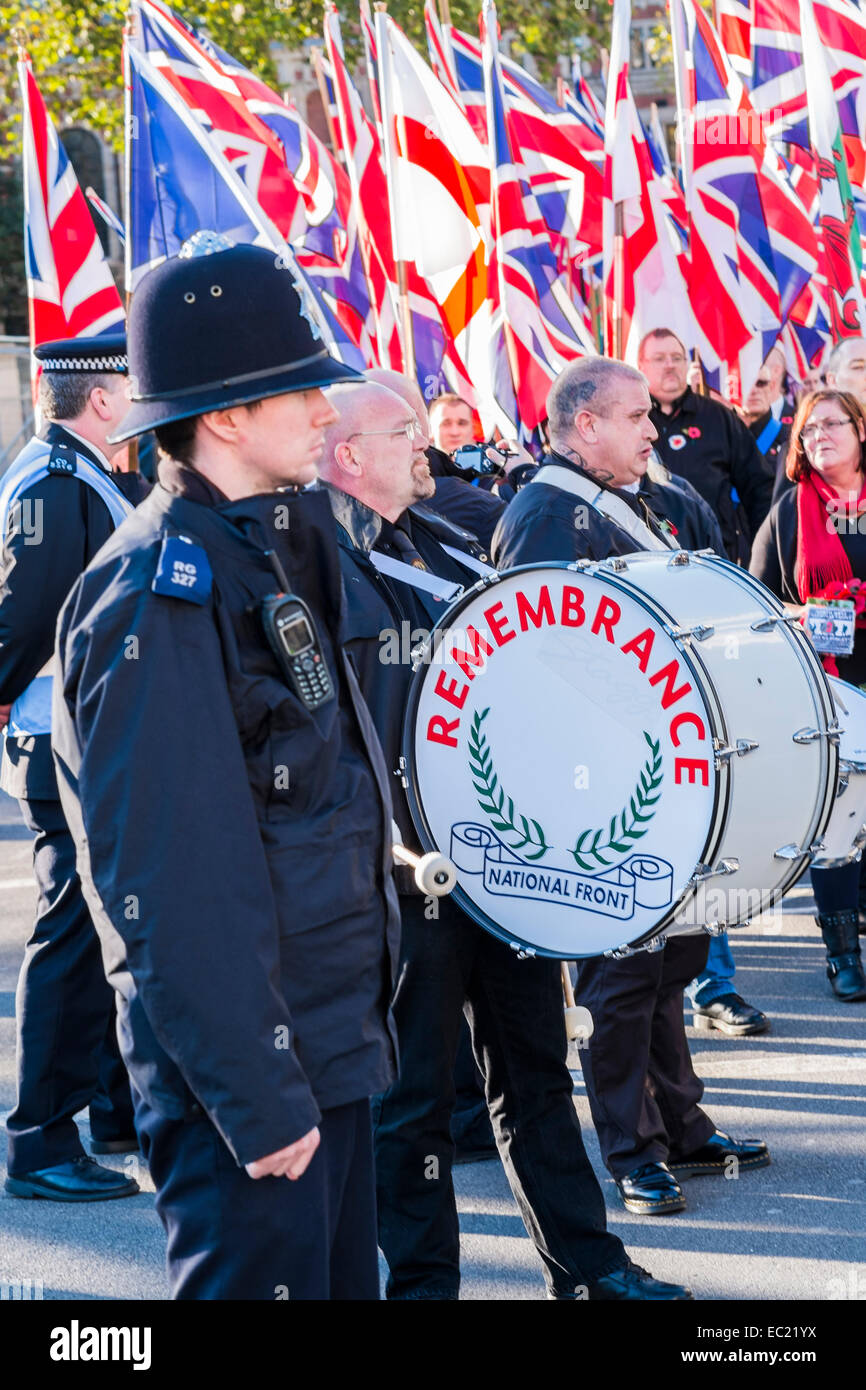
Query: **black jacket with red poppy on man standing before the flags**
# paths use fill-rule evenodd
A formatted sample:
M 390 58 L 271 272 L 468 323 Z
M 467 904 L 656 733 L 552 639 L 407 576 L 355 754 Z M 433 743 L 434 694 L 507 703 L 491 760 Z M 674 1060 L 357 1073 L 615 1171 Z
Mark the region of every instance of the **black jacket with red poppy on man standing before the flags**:
M 653 400 L 649 418 L 659 431 L 655 449 L 662 463 L 709 502 L 728 559 L 746 564 L 752 537 L 770 509 L 773 477 L 742 420 L 691 386 L 670 414 Z

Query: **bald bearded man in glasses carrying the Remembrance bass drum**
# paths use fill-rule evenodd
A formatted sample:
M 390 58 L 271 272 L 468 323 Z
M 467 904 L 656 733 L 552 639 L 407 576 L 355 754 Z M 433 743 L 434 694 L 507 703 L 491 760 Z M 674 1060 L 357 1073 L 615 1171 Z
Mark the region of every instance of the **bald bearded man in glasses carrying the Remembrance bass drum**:
M 327 432 L 320 477 L 339 527 L 346 645 L 398 771 L 411 649 L 484 566 L 461 532 L 417 506 L 432 492 L 427 421 L 378 385 L 363 392 L 336 388 L 329 399 L 341 418 Z M 417 848 L 406 798 L 399 783 L 395 788 L 400 831 Z M 464 1008 L 500 1158 L 544 1261 L 549 1297 L 689 1297 L 631 1265 L 606 1229 L 605 1201 L 571 1099 L 557 962 L 518 960 L 450 898 L 424 899 L 411 881 L 402 888 L 393 999 L 400 1077 L 374 1111 L 388 1297 L 459 1294 L 449 1122 Z

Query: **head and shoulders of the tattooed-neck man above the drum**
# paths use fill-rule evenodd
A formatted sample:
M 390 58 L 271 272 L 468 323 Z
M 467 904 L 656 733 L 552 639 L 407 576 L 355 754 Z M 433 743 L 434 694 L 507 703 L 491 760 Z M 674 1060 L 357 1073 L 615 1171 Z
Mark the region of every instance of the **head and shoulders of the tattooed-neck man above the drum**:
M 676 545 L 638 491 L 656 438 L 651 406 L 646 378 L 626 363 L 566 367 L 548 395 L 550 452 L 493 535 L 499 570 Z

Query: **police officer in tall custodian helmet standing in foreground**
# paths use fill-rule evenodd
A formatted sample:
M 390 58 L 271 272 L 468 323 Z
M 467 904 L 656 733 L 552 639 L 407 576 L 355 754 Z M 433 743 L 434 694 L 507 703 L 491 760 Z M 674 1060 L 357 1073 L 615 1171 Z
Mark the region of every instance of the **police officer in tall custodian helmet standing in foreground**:
M 177 1298 L 378 1298 L 396 1069 L 388 777 L 303 492 L 357 374 L 307 289 L 196 234 L 129 314 L 158 482 L 58 624 L 54 755 Z

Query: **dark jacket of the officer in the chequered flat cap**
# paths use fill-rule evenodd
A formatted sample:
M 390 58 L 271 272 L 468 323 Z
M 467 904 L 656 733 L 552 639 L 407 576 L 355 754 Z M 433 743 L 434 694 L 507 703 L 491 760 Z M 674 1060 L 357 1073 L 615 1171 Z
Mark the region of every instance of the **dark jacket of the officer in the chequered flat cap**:
M 7 527 L 0 559 L 0 705 L 14 703 L 50 659 L 63 602 L 114 531 L 108 507 L 75 473 L 76 455 L 104 467 L 93 448 L 56 423 L 39 438 L 51 448 L 53 471 L 21 493 L 29 521 Z M 138 473 L 111 477 L 133 506 L 150 491 Z M 57 799 L 50 734 L 7 734 L 0 787 L 21 799 Z

